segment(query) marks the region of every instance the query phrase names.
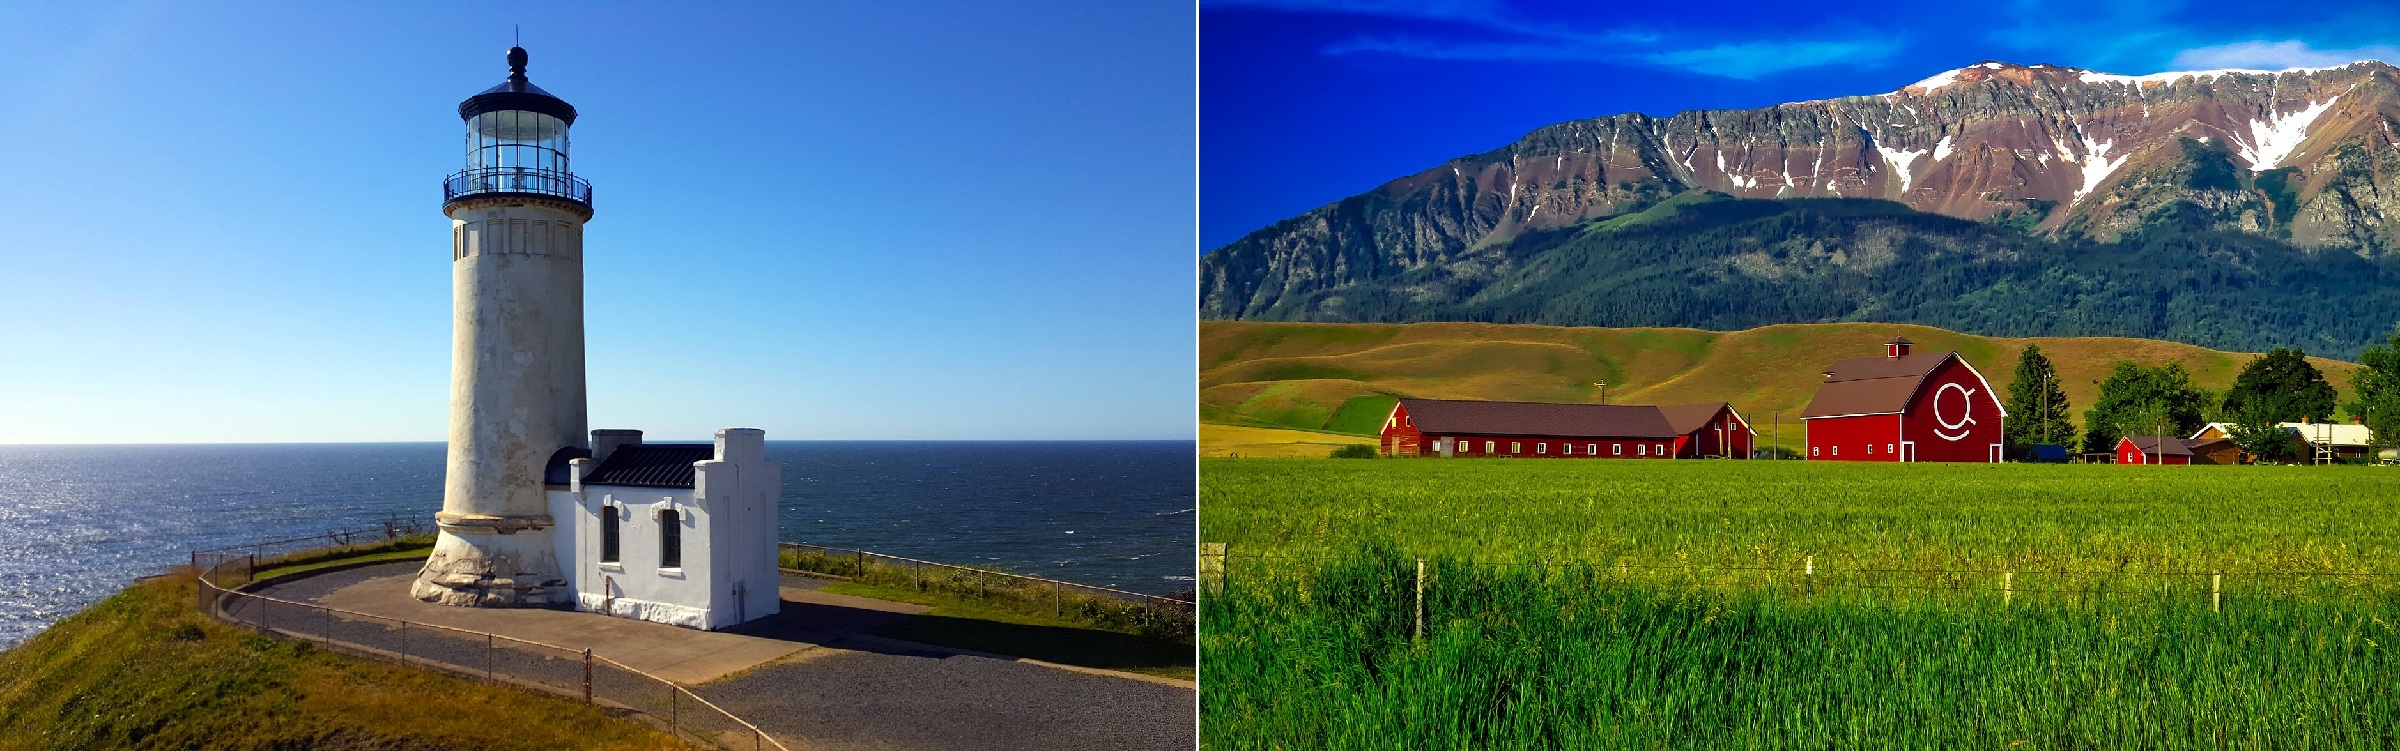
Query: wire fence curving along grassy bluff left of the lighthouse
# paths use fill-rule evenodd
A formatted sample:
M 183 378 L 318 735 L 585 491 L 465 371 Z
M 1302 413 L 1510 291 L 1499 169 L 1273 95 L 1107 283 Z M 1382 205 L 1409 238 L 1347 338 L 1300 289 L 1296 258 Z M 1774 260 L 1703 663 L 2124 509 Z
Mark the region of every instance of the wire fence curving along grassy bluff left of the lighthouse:
M 617 660 L 593 655 L 590 650 L 242 590 L 242 585 L 257 581 L 259 571 L 317 557 L 317 549 L 324 545 L 358 547 L 413 535 L 396 525 L 386 528 L 389 533 L 331 533 L 192 552 L 192 569 L 199 573 L 199 607 L 221 621 L 250 626 L 266 636 L 307 641 L 346 655 L 442 669 L 466 679 L 581 698 L 583 703 L 607 703 L 648 715 L 653 725 L 677 737 L 718 749 L 790 751 L 782 741 L 761 732 L 758 725 L 718 708 L 698 693 Z M 384 537 L 377 540 L 374 535 Z

